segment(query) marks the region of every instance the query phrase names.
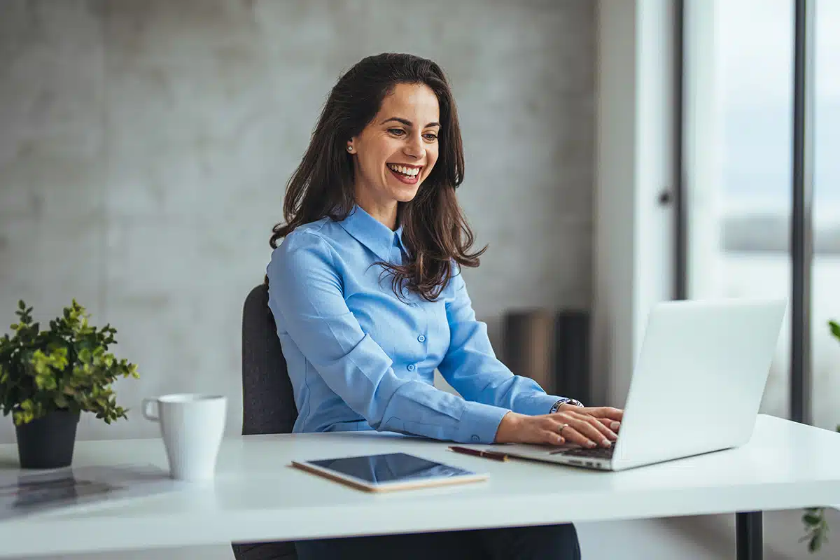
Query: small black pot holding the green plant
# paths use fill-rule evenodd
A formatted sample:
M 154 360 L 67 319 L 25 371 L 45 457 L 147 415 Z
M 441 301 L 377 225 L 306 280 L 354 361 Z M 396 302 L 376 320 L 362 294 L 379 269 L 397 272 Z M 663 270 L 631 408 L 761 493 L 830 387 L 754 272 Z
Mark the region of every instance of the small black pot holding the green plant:
M 21 468 L 60 468 L 73 462 L 79 413 L 50 412 L 15 427 Z

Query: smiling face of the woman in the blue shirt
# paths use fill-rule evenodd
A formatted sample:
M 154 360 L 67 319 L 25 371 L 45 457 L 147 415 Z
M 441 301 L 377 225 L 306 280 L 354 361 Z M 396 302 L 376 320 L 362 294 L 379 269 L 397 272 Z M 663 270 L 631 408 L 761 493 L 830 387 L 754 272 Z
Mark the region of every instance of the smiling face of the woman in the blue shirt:
M 380 207 L 411 201 L 438 160 L 438 97 L 423 84 L 397 84 L 379 113 L 348 143 L 355 191 Z

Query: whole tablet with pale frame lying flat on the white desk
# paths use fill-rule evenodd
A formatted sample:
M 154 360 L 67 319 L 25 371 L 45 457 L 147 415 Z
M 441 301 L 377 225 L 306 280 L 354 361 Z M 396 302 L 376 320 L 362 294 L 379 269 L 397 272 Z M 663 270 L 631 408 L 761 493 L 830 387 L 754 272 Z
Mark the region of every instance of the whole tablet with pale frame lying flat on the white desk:
M 488 478 L 487 474 L 407 453 L 292 461 L 291 465 L 370 492 L 462 484 Z

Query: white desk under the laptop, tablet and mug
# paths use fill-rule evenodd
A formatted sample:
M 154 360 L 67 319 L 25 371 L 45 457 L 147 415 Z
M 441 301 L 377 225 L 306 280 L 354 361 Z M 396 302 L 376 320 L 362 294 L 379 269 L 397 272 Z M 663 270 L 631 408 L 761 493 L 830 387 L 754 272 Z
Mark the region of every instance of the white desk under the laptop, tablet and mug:
M 739 449 L 622 473 L 518 460 L 500 463 L 451 453 L 447 445 L 376 433 L 230 438 L 223 442 L 213 483 L 0 521 L 0 557 L 840 503 L 840 434 L 772 416 L 759 416 L 752 441 Z M 371 495 L 288 466 L 293 458 L 391 451 L 485 470 L 491 479 Z M 76 467 L 125 463 L 165 467 L 163 443 L 76 443 Z M 8 472 L 15 465 L 17 448 L 0 446 L 0 469 Z M 566 503 L 575 506 L 561 506 Z M 753 536 L 760 539 L 758 516 L 742 519 L 746 529 L 759 521 Z M 741 557 L 760 557 L 760 542 L 751 546 Z

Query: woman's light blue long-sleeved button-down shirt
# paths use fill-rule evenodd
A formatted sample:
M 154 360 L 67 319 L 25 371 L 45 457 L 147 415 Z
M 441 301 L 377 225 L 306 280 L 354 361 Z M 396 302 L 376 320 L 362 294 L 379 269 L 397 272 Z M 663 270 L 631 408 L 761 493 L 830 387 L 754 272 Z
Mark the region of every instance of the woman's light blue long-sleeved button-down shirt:
M 496 359 L 457 267 L 436 301 L 396 296 L 374 264 L 404 254 L 402 228 L 355 207 L 342 222 L 296 228 L 271 255 L 269 306 L 295 392 L 294 432 L 489 443 L 508 411 L 548 414 L 560 397 Z M 464 398 L 435 388 L 434 369 Z

